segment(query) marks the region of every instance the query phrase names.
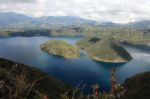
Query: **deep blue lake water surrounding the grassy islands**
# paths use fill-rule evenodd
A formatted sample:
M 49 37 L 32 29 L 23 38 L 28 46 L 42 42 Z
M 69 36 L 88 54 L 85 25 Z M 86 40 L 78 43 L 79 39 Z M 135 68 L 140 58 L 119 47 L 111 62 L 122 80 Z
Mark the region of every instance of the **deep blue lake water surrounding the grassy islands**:
M 134 58 L 126 64 L 95 62 L 90 60 L 84 51 L 81 51 L 79 59 L 67 60 L 40 50 L 40 44 L 52 39 L 75 44 L 81 38 L 44 36 L 0 38 L 0 57 L 35 66 L 73 86 L 82 82 L 82 85 L 86 85 L 85 92 L 89 92 L 90 85 L 95 83 L 100 84 L 101 91 L 108 91 L 112 67 L 117 70 L 119 83 L 123 83 L 126 78 L 137 73 L 150 71 L 150 53 L 137 48 L 125 47 Z

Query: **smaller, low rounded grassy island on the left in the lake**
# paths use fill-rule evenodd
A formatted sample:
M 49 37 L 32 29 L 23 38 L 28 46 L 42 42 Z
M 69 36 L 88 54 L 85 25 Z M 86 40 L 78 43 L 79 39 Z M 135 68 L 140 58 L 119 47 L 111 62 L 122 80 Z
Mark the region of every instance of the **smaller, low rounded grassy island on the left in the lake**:
M 61 56 L 66 59 L 80 57 L 80 49 L 62 40 L 50 40 L 40 45 L 40 48 L 49 54 Z

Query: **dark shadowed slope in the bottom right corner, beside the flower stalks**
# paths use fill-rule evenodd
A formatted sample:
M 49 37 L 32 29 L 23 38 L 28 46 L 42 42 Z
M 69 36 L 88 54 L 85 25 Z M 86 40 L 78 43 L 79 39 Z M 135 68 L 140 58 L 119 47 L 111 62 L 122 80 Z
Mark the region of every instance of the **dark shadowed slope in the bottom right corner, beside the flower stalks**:
M 123 86 L 127 91 L 122 99 L 150 99 L 150 72 L 126 79 Z

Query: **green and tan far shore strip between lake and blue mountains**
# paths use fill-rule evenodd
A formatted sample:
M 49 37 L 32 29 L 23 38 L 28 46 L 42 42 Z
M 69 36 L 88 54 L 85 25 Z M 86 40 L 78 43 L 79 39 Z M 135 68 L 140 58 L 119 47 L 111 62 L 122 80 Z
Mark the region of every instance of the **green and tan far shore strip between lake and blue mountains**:
M 0 37 L 9 36 L 84 36 L 84 37 L 112 37 L 116 40 L 128 42 L 150 42 L 148 29 L 101 27 L 96 25 L 55 26 L 55 27 L 4 27 L 0 28 Z

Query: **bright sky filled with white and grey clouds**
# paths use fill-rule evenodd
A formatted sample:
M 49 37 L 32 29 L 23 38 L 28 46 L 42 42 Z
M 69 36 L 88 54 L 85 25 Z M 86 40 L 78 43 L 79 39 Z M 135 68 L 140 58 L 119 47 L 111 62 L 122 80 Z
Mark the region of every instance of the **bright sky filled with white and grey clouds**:
M 150 0 L 0 0 L 0 12 L 128 23 L 150 20 Z

